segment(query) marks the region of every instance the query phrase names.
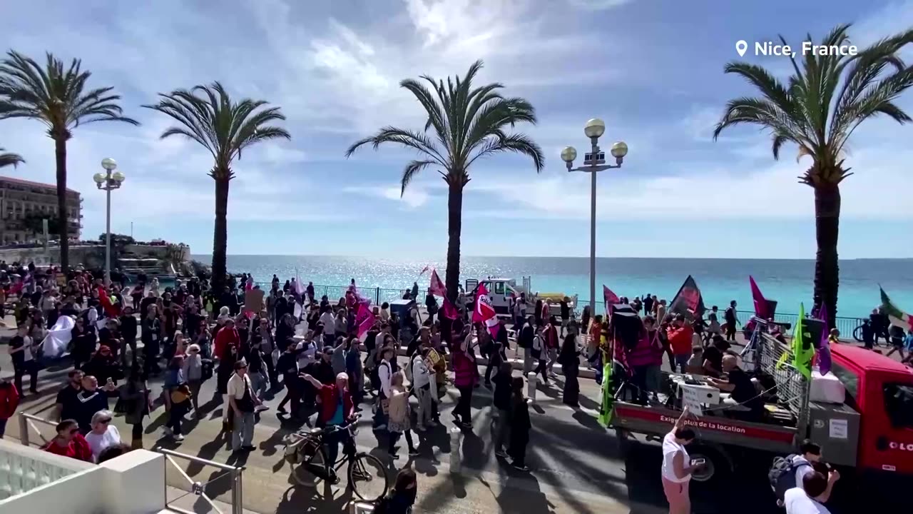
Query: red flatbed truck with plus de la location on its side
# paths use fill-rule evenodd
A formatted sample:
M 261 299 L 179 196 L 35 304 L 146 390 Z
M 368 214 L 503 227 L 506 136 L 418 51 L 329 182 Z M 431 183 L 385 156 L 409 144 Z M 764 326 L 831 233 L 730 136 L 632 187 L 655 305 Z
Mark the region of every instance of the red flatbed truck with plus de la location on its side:
M 841 486 L 863 487 L 872 498 L 873 485 L 881 488 L 913 485 L 913 369 L 879 353 L 850 345 L 831 347 L 834 375 L 843 383 L 845 402 L 810 402 L 810 383 L 789 364 L 778 366 L 784 345 L 756 329 L 746 356 L 746 370 L 766 380 L 776 397 L 765 399 L 761 420 L 743 421 L 724 414 L 687 420 L 698 441 L 688 452 L 707 459 L 705 469 L 693 476 L 715 482 L 732 475 L 736 463 L 766 462 L 772 455 L 795 453 L 805 438 L 823 449 L 824 460 L 841 470 Z M 674 378 L 666 373 L 664 378 Z M 673 380 L 664 380 L 667 386 Z M 773 386 L 775 384 L 775 387 Z M 622 451 L 638 439 L 666 434 L 681 413 L 676 391 L 667 387 L 664 407 L 643 406 L 616 398 L 612 426 Z M 771 458 L 742 458 L 758 451 Z M 894 487 L 892 496 L 901 496 Z M 906 495 L 903 495 L 906 496 Z

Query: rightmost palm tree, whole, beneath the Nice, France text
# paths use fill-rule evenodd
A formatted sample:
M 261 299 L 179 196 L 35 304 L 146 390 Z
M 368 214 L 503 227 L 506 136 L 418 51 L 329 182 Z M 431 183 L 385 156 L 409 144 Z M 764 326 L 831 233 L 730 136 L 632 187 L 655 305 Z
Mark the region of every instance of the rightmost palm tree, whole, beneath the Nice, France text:
M 825 47 L 849 44 L 849 25 L 841 25 L 822 40 Z M 808 155 L 812 166 L 799 182 L 814 191 L 815 239 L 818 251 L 814 265 L 815 305 L 826 305 L 831 327 L 837 312 L 839 270 L 837 235 L 840 223 L 840 185 L 849 173 L 845 145 L 860 123 L 884 114 L 897 123 L 911 121 L 894 103 L 913 85 L 913 68 L 897 57 L 897 51 L 913 39 L 913 31 L 882 39 L 855 56 L 806 53 L 800 68 L 792 58 L 793 74 L 784 85 L 770 71 L 745 62 L 726 65 L 761 92 L 760 97 L 730 101 L 713 133 L 739 123 L 760 125 L 773 138 L 773 158 L 782 145 L 799 147 L 797 161 Z M 785 41 L 781 37 L 783 44 Z M 807 36 L 806 41 L 812 42 Z

